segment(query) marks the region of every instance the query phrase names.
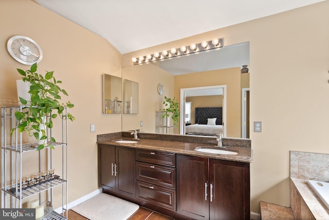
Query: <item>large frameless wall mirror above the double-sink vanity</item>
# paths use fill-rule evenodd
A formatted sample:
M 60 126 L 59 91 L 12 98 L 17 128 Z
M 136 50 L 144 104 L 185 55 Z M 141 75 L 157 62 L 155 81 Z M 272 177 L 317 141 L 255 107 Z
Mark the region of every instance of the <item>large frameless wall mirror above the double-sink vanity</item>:
M 248 138 L 243 134 L 249 129 L 243 120 L 249 118 L 249 112 L 243 110 L 242 100 L 243 91 L 249 93 L 249 73 L 241 73 L 242 65 L 249 65 L 249 42 L 122 68 L 122 78 L 136 81 L 140 86 L 139 114 L 134 117 L 123 115 L 122 131 L 142 129 L 144 132 L 156 133 L 156 112 L 162 108 L 164 97 L 167 96 L 178 99 L 180 105 L 180 123 L 176 134 L 187 134 L 186 126 L 197 123 L 197 107 L 220 107 L 222 116 L 225 116 L 222 121 L 226 131 L 224 136 Z M 162 95 L 157 92 L 159 83 L 164 86 Z M 207 90 L 212 87 L 225 87 L 226 94 L 220 94 L 223 89 L 219 94 L 212 94 L 211 90 Z M 223 102 L 223 99 L 226 100 Z M 187 109 L 189 106 L 190 109 Z M 201 134 L 193 133 L 189 134 Z

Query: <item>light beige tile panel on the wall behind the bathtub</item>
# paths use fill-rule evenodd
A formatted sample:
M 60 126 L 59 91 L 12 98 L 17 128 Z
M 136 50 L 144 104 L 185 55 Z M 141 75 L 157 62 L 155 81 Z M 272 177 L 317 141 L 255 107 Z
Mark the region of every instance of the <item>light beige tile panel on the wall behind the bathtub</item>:
M 329 181 L 329 154 L 290 151 L 290 177 Z

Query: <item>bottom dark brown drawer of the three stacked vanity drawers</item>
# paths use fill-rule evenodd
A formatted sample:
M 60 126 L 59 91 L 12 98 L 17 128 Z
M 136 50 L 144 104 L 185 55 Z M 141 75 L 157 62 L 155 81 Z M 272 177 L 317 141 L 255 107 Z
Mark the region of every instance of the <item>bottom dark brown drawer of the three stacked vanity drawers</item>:
M 176 210 L 176 191 L 136 181 L 136 197 L 162 208 Z

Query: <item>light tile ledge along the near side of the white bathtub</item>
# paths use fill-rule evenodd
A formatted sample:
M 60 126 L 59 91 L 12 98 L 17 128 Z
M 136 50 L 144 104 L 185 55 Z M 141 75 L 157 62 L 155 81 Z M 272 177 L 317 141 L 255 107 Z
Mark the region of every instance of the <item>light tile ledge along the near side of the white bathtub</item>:
M 290 177 L 315 219 L 329 219 L 329 213 L 317 194 L 308 186 L 307 180 Z

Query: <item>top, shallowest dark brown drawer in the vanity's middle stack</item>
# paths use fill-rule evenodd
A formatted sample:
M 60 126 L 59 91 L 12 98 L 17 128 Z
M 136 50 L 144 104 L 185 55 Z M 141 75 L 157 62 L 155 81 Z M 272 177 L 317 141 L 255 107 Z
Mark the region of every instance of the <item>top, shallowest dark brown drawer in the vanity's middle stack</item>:
M 174 153 L 136 150 L 136 160 L 171 167 L 175 167 L 176 165 L 176 157 Z

